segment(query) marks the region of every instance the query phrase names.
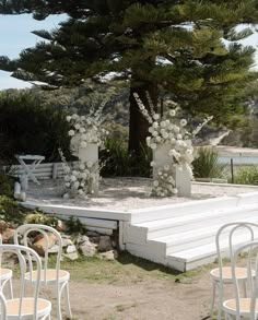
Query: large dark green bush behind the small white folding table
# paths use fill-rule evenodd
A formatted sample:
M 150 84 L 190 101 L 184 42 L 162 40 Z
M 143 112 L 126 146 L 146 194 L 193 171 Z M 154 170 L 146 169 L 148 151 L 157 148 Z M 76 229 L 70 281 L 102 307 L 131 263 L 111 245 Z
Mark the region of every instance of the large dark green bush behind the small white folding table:
M 27 93 L 0 94 L 0 159 L 14 161 L 15 154 L 40 154 L 46 161 L 59 159 L 61 147 L 69 158 L 69 125 L 61 108 L 42 107 Z

